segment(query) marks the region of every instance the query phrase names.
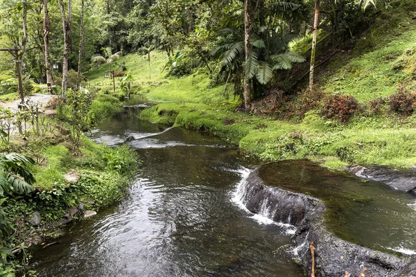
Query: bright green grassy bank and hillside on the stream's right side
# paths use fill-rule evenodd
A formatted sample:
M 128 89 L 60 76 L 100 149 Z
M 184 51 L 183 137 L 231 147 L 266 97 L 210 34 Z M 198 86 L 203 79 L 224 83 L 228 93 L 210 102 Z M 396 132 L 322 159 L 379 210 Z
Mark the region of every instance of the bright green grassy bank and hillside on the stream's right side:
M 239 145 L 243 154 L 263 161 L 306 158 L 341 170 L 354 163 L 408 168 L 416 164 L 413 108 L 405 116 L 386 104 L 390 98 L 383 98 L 376 108 L 374 99 L 397 93 L 399 85 L 415 92 L 415 16 L 413 1 L 392 1 L 392 8 L 374 15 L 375 23 L 356 38 L 354 48 L 336 52 L 317 69 L 318 87 L 325 96 L 347 95 L 357 100 L 354 115 L 345 123 L 325 117 L 324 98 L 306 114 L 298 115 L 297 111 L 311 102 L 302 92 L 263 114 L 235 112 L 239 100 L 224 94 L 223 86 L 211 87 L 207 75 L 200 71 L 166 78 L 162 67 L 167 58 L 158 54 L 149 79 L 141 61 L 144 57 L 128 55 L 123 61 L 137 78 L 139 93 L 159 102 L 141 113 L 144 119 L 210 132 Z M 298 44 L 293 48 L 304 48 L 307 55 L 305 41 Z M 322 45 L 323 59 L 328 49 Z M 307 68 L 308 64 L 302 66 Z M 103 66 L 87 76 L 93 82 L 105 82 L 102 71 Z

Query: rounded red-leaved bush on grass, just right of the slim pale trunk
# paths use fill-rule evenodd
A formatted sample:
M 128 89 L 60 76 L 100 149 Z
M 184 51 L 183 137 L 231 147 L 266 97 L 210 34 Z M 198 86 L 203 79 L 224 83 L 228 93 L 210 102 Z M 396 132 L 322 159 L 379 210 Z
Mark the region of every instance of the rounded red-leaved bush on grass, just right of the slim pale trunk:
M 358 102 L 354 96 L 331 94 L 324 98 L 321 111 L 325 118 L 335 118 L 341 123 L 346 123 L 357 107 Z

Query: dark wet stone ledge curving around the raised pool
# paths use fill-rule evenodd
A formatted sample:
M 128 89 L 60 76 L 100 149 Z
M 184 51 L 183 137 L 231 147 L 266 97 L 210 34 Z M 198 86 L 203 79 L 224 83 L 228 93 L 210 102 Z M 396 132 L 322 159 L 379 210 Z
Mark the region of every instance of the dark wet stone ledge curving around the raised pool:
M 316 276 L 358 276 L 367 267 L 365 276 L 414 275 L 416 266 L 410 258 L 398 258 L 345 242 L 329 231 L 324 222 L 325 205 L 320 199 L 293 193 L 275 186 L 266 186 L 259 177 L 259 168 L 252 170 L 245 184 L 243 202 L 252 213 L 259 213 L 265 199 L 273 206 L 270 217 L 276 222 L 290 222 L 296 226 L 292 246 L 296 259 L 311 275 L 309 243 L 315 246 Z

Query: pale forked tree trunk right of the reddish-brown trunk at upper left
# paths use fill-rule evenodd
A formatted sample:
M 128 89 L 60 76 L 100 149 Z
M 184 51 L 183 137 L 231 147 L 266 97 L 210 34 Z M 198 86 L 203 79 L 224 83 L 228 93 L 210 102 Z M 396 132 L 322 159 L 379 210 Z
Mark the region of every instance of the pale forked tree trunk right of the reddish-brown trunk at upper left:
M 62 28 L 64 31 L 64 61 L 62 65 L 62 97 L 64 100 L 67 100 L 67 82 L 68 82 L 68 58 L 69 53 L 71 52 L 71 18 L 72 18 L 72 9 L 71 9 L 71 0 L 68 0 L 68 16 L 65 15 L 65 7 L 62 0 L 59 0 L 60 10 L 62 14 Z

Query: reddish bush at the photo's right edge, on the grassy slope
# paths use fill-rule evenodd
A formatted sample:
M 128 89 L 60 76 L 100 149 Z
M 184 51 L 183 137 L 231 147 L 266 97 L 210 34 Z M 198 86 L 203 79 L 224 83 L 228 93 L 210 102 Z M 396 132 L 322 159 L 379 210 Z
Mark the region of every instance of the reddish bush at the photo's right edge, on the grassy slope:
M 397 88 L 397 93 L 388 97 L 390 111 L 401 116 L 410 116 L 415 109 L 416 93 L 408 91 L 404 85 Z

